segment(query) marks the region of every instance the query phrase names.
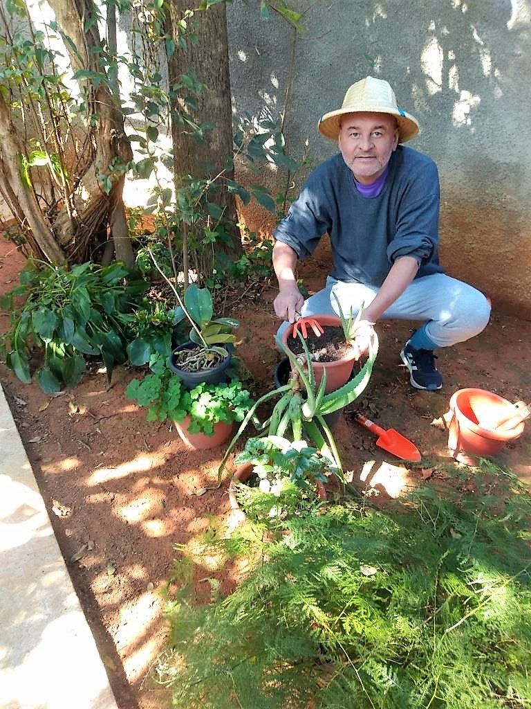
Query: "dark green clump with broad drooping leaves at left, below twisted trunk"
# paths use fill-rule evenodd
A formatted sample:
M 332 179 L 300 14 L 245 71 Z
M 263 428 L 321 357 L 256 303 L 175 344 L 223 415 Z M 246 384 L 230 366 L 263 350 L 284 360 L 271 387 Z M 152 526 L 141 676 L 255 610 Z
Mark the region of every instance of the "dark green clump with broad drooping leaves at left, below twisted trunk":
M 90 356 L 103 359 L 110 381 L 115 364 L 127 359 L 133 311 L 142 303 L 146 281 L 121 262 L 69 268 L 35 259 L 28 261 L 20 280 L 1 299 L 11 311 L 2 351 L 18 379 L 30 383 L 30 361 L 38 350 L 43 361 L 35 378 L 43 391 L 79 384 Z M 18 297 L 25 298 L 21 307 Z

